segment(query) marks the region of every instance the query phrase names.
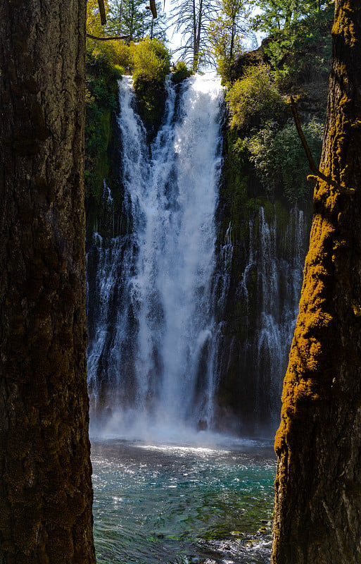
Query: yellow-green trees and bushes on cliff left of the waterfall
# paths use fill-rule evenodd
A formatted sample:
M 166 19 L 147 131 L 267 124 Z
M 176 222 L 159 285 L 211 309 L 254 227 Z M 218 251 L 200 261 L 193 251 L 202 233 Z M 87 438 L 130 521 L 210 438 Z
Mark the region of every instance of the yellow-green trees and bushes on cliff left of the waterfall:
M 126 23 L 131 25 L 132 22 L 133 27 L 127 28 L 127 32 L 129 37 L 138 40 L 135 44 L 119 39 L 99 41 L 87 38 L 85 181 L 87 224 L 91 229 L 94 228 L 96 216 L 99 215 L 104 182 L 112 189 L 115 211 L 121 214 L 120 190 L 114 190 L 115 186 L 120 188 L 119 179 L 114 173 L 114 170 L 119 168 L 119 163 L 115 162 L 119 157 L 114 151 L 114 147 L 118 145 L 115 121 L 118 111 L 118 80 L 122 75 L 132 73 L 140 114 L 150 127 L 155 128 L 163 114 L 159 99 L 165 99 L 164 80 L 170 71 L 170 53 L 164 43 L 156 37 L 162 33 L 157 27 L 151 27 L 153 39 L 144 36 L 144 33 L 149 31 L 149 26 L 144 25 L 144 20 L 141 20 L 139 2 L 125 2 L 122 10 L 117 6 L 116 3 L 111 6 L 105 3 L 109 20 L 106 29 L 103 29 L 100 25 L 97 1 L 90 0 L 87 3 L 87 30 L 91 35 L 104 37 L 109 32 L 117 32 L 117 25 L 124 27 Z M 128 14 L 129 11 L 132 12 L 132 18 Z

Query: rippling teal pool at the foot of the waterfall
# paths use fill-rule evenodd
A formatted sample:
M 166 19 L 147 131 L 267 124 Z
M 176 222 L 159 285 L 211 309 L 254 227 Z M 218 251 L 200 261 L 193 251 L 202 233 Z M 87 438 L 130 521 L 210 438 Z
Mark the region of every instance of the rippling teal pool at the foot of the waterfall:
M 93 441 L 99 564 L 270 562 L 270 443 Z

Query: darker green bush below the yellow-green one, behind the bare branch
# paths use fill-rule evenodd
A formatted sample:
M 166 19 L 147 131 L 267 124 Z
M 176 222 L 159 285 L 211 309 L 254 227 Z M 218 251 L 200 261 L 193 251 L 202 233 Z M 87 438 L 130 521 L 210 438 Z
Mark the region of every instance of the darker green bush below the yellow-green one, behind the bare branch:
M 315 162 L 319 161 L 322 123 L 311 120 L 303 126 L 303 133 Z M 248 139 L 247 147 L 258 178 L 270 198 L 274 197 L 277 186 L 281 185 L 284 196 L 291 204 L 309 200 L 307 175 L 310 168 L 293 121 L 287 122 L 281 129 L 274 121 L 268 122 Z

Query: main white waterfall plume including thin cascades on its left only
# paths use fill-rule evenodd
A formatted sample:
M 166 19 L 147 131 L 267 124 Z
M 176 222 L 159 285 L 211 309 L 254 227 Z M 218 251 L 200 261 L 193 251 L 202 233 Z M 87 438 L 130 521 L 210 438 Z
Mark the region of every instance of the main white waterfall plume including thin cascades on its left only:
M 215 277 L 222 87 L 208 75 L 167 81 L 165 118 L 146 142 L 131 78 L 120 80 L 124 214 L 132 228 L 94 234 L 88 264 L 91 422 L 204 429 L 213 424 L 229 245 Z M 228 257 L 228 258 L 227 258 Z M 217 279 L 216 279 L 217 278 Z

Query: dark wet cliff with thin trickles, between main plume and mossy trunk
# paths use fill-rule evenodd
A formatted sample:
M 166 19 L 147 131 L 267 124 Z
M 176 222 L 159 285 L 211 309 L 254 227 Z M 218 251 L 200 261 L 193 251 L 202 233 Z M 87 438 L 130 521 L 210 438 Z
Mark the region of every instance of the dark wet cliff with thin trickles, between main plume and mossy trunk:
M 298 314 L 309 226 L 298 207 L 278 209 L 251 212 L 225 300 L 217 419 L 239 433 L 277 428 Z

